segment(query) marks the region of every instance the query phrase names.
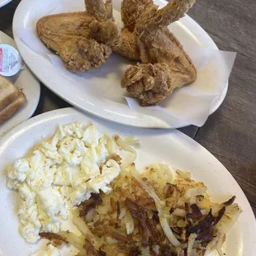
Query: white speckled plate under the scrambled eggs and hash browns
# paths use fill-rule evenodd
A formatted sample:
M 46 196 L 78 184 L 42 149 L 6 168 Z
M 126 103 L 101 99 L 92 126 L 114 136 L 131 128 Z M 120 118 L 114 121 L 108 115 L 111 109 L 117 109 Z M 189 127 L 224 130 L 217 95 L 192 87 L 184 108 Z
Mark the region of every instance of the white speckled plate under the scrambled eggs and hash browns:
M 231 195 L 242 207 L 243 213 L 230 230 L 224 244 L 227 256 L 255 255 L 256 221 L 249 201 L 235 179 L 220 162 L 201 145 L 178 130 L 149 130 L 120 126 L 88 116 L 74 108 L 46 112 L 17 126 L 2 139 L 0 145 L 0 254 L 27 256 L 38 246 L 26 244 L 18 233 L 17 193 L 6 188 L 5 170 L 15 159 L 23 157 L 44 137 L 53 135 L 60 124 L 81 121 L 94 122 L 97 129 L 109 135 L 134 136 L 141 141 L 137 149 L 138 168 L 162 162 L 192 173 L 192 177 L 205 183 L 216 201 L 225 201 Z M 154 146 L 152 146 L 154 145 Z M 218 254 L 211 254 L 217 256 Z

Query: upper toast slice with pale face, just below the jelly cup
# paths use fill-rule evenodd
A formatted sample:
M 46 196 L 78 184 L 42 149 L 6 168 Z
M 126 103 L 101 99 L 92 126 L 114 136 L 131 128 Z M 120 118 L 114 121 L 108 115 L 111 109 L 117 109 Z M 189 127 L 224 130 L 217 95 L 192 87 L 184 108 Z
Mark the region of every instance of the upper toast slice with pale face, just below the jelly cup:
M 15 85 L 0 75 L 0 111 L 14 102 L 19 93 L 20 91 Z

